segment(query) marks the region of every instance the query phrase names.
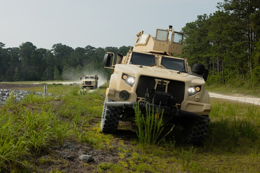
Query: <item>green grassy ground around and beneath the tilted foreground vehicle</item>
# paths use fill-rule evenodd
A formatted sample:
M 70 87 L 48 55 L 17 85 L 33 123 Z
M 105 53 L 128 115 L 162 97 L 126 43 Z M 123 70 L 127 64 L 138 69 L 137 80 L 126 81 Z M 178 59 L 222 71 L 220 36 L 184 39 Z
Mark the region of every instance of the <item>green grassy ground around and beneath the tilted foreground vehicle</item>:
M 210 98 L 211 122 L 202 146 L 186 144 L 173 129 L 147 154 L 133 122 L 119 122 L 115 134 L 100 131 L 107 86 L 80 93 L 77 85 L 48 85 L 48 93 L 62 97 L 29 95 L 0 105 L 1 171 L 260 172 L 259 106 Z M 28 90 L 43 92 L 42 87 Z M 67 142 L 76 150 L 64 149 Z M 93 155 L 94 161 L 79 161 L 81 154 Z

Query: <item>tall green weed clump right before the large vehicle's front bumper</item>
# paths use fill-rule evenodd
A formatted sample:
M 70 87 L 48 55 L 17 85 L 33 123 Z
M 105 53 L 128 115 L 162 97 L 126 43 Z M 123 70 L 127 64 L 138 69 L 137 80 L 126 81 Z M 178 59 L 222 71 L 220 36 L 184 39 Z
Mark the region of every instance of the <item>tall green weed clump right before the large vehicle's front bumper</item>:
M 155 147 L 164 139 L 164 137 L 170 133 L 171 130 L 157 142 L 159 135 L 163 130 L 163 121 L 162 121 L 162 114 L 159 116 L 159 112 L 155 113 L 151 111 L 150 107 L 147 108 L 146 106 L 146 115 L 140 113 L 139 105 L 135 105 L 135 122 L 138 127 L 137 136 L 139 138 L 139 142 L 141 145 L 141 149 L 144 153 L 151 153 L 154 151 Z M 153 110 L 153 108 L 152 108 Z

